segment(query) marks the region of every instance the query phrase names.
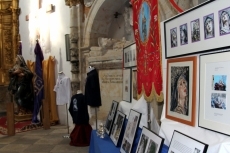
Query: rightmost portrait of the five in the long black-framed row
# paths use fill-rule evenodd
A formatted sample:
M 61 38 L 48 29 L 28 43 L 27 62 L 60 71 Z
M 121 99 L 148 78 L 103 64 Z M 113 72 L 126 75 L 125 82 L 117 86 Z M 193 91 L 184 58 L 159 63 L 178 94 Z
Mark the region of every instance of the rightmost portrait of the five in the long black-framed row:
M 220 36 L 230 33 L 230 7 L 219 11 Z

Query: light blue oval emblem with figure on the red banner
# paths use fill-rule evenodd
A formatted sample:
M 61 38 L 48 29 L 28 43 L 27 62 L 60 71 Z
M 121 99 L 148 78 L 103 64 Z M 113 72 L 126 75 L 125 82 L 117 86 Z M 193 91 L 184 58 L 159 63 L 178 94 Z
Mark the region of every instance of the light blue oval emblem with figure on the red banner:
M 139 10 L 139 35 L 142 43 L 148 41 L 149 31 L 150 31 L 150 7 L 148 2 L 144 1 Z

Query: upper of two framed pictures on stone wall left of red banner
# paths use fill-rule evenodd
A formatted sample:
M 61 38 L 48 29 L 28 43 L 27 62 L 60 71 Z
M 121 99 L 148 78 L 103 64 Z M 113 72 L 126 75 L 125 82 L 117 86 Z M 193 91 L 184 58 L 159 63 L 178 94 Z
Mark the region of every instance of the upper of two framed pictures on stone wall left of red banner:
M 123 49 L 124 68 L 137 65 L 136 44 L 133 43 Z

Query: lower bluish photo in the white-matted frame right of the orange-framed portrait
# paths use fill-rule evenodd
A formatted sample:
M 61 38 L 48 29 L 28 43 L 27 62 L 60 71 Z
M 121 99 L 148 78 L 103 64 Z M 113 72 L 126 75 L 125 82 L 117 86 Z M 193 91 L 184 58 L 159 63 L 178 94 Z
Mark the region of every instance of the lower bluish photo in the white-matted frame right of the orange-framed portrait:
M 218 109 L 226 109 L 226 93 L 212 93 L 211 107 Z

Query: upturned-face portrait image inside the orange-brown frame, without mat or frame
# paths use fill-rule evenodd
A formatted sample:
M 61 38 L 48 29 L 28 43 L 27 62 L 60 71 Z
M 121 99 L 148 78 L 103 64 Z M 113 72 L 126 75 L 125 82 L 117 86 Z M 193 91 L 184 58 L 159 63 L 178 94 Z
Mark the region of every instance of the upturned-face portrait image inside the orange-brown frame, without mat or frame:
M 189 114 L 189 66 L 171 67 L 170 111 Z

